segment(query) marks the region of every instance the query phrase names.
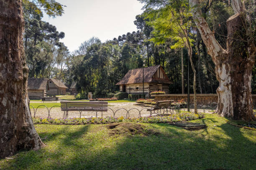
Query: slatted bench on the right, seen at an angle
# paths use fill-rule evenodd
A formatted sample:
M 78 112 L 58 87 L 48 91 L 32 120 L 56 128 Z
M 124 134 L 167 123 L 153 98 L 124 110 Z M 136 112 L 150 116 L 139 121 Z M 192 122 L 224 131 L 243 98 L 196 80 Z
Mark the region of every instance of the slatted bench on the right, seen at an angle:
M 152 106 L 147 111 L 150 111 L 150 116 L 154 113 L 156 113 L 157 115 L 161 115 L 162 109 L 164 110 L 164 112 L 168 113 L 168 109 L 170 109 L 170 107 L 172 106 L 172 102 L 174 102 L 174 100 L 157 101 L 156 105 Z M 160 110 L 160 114 L 159 114 L 159 110 Z M 157 111 L 157 112 L 155 112 L 155 111 Z M 163 112 L 163 114 L 164 114 L 164 112 Z

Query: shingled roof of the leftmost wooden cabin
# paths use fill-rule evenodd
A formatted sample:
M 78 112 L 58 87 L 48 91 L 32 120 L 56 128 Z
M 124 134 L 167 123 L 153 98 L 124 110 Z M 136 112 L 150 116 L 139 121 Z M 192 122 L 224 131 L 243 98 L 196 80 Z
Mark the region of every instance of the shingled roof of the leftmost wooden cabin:
M 45 90 L 47 78 L 28 78 L 28 90 Z

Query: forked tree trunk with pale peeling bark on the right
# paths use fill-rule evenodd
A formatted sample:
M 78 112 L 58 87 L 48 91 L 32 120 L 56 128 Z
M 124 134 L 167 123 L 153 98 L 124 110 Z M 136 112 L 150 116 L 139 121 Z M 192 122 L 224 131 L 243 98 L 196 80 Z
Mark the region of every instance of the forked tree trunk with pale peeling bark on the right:
M 216 77 L 220 82 L 217 89 L 218 107 L 215 112 L 234 120 L 256 120 L 251 98 L 251 72 L 256 47 L 254 40 L 249 40 L 244 31 L 245 21 L 242 18 L 245 18 L 245 14 L 241 5 L 235 5 L 236 14 L 227 20 L 228 39 L 227 49 L 224 50 L 202 17 L 198 0 L 189 0 L 189 3 L 207 52 L 215 63 Z M 240 4 L 241 1 L 232 3 Z

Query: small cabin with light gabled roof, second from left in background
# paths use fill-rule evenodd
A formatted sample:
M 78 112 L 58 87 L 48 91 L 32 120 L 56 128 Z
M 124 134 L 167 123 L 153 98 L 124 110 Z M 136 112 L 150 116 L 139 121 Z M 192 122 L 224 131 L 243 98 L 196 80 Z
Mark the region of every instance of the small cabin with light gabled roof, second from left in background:
M 56 79 L 49 79 L 48 80 L 48 89 L 47 94 L 48 95 L 66 95 L 66 90 L 68 89 L 67 86 L 61 82 L 61 80 Z

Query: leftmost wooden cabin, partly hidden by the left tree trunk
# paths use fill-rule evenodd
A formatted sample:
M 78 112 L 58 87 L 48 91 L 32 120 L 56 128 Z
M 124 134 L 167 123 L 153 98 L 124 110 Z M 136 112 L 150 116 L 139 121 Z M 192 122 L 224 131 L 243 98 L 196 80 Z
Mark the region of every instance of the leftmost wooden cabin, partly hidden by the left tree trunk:
M 40 99 L 46 97 L 48 78 L 28 78 L 28 98 Z

